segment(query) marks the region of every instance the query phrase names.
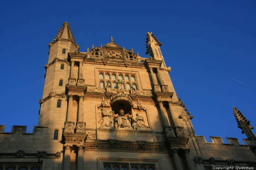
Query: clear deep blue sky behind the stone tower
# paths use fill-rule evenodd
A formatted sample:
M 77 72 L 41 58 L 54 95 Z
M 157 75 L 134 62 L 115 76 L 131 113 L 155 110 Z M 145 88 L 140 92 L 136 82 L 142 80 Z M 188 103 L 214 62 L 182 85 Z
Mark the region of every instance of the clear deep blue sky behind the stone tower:
M 68 21 L 80 51 L 113 36 L 146 52 L 146 32 L 159 41 L 174 88 L 194 116 L 197 135 L 246 138 L 233 106 L 252 126 L 256 96 L 256 1 L 4 1 L 1 19 L 0 124 L 37 126 L 48 43 Z

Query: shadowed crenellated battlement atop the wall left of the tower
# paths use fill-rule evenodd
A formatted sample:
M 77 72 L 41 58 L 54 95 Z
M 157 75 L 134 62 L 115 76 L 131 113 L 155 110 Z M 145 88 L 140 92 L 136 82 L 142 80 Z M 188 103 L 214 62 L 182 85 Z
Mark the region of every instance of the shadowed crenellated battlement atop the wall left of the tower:
M 0 125 L 0 134 L 23 134 L 23 135 L 35 135 L 38 131 L 41 132 L 45 128 L 48 127 L 43 127 L 43 126 L 34 126 L 33 132 L 32 133 L 26 133 L 27 131 L 27 126 L 12 126 L 11 132 L 4 132 L 5 130 L 5 125 Z

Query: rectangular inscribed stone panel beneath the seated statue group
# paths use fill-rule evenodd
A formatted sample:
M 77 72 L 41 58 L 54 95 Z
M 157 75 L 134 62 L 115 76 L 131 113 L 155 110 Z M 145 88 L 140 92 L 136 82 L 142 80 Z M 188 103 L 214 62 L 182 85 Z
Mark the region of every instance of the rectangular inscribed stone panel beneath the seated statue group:
M 108 130 L 97 129 L 97 139 L 99 140 L 116 139 L 118 141 L 155 142 L 152 131 L 136 132 L 136 130 L 118 130 L 118 129 L 108 129 Z

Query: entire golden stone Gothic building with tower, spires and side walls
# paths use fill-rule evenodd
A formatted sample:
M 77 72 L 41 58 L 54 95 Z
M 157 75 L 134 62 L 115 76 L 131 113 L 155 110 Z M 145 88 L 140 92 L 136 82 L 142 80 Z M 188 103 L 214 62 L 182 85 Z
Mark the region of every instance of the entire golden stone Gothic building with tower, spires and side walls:
M 246 145 L 197 136 L 177 98 L 157 38 L 149 58 L 114 43 L 80 52 L 65 22 L 49 43 L 33 133 L 0 126 L 0 170 L 205 170 L 254 167 L 255 135 L 234 108 Z M 245 121 L 246 120 L 246 121 Z

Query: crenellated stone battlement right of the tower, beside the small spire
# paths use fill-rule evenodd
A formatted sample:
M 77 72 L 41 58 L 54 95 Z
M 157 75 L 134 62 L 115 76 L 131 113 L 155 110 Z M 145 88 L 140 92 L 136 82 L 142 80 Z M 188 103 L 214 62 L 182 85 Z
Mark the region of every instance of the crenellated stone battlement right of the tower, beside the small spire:
M 229 142 L 229 143 L 224 143 L 221 137 L 210 137 L 211 142 L 207 142 L 206 138 L 204 136 L 197 136 L 197 139 L 198 139 L 199 143 L 204 143 L 204 144 L 233 145 L 233 146 L 250 146 L 249 143 L 251 141 L 248 139 L 244 139 L 244 142 L 246 145 L 241 145 L 238 138 L 226 138 L 227 142 Z

